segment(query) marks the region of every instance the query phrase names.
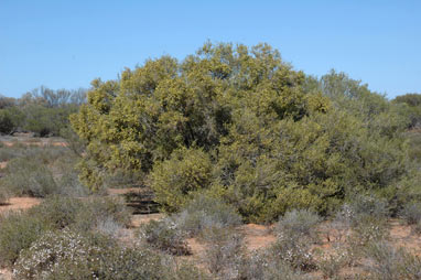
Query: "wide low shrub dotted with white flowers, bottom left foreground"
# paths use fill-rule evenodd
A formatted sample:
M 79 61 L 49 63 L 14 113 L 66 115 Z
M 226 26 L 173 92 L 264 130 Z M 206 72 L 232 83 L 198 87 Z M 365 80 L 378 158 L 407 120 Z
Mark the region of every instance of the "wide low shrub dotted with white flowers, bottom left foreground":
M 128 248 L 102 236 L 67 228 L 48 231 L 21 252 L 17 279 L 165 279 L 162 257 L 144 248 Z

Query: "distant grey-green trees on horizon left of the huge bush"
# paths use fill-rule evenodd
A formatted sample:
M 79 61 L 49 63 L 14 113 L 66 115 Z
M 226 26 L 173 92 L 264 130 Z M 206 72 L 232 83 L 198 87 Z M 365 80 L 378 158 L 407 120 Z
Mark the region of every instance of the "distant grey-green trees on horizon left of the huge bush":
M 68 129 L 68 116 L 86 101 L 86 90 L 53 90 L 39 87 L 21 98 L 0 96 L 0 132 L 18 131 L 35 136 L 60 136 Z

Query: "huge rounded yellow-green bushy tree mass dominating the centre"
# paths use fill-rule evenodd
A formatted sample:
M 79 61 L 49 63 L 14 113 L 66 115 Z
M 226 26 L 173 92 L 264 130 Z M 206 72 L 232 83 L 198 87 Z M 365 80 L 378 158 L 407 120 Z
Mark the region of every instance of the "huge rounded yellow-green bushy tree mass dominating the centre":
M 208 43 L 94 80 L 71 119 L 91 189 L 130 170 L 166 211 L 208 192 L 262 222 L 389 190 L 407 173 L 403 111 L 343 73 L 293 71 L 269 45 Z

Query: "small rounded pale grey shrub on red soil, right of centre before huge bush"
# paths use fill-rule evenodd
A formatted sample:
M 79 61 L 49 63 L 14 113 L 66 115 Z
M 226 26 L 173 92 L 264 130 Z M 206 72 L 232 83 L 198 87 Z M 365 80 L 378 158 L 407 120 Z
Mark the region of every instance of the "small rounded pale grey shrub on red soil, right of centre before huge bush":
M 314 238 L 316 225 L 322 218 L 307 209 L 293 209 L 287 212 L 276 225 L 276 233 L 280 236 L 309 236 Z

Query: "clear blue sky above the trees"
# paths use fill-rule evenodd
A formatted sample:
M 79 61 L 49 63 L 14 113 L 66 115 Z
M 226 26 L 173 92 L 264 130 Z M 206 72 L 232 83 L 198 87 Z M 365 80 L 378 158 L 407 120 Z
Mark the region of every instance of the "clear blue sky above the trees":
M 0 0 L 0 94 L 89 87 L 207 40 L 267 42 L 295 69 L 335 68 L 390 98 L 421 93 L 419 0 Z

